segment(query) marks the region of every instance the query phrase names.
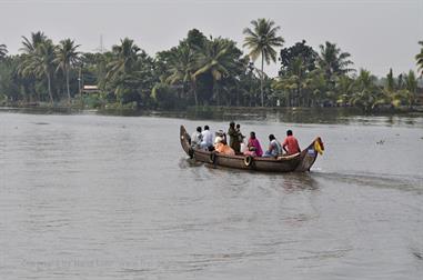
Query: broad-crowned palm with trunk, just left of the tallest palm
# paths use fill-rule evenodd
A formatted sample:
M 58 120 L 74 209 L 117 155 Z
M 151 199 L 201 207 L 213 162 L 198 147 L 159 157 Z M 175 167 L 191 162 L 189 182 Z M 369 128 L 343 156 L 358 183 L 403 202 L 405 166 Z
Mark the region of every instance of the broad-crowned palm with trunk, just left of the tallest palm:
M 222 78 L 236 72 L 240 67 L 239 57 L 241 51 L 236 49 L 235 42 L 215 38 L 207 41 L 204 48 L 197 56 L 198 70 L 194 78 L 210 73 L 213 78 L 213 91 L 220 106 L 219 84 Z

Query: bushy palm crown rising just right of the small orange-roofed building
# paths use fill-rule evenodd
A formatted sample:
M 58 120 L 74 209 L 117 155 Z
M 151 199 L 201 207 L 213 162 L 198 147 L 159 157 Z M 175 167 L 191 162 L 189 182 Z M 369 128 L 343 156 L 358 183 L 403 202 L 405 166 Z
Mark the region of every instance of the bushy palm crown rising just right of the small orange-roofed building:
M 141 50 L 133 40 L 124 38 L 120 44 L 112 47 L 113 60 L 108 64 L 107 78 L 117 78 L 119 73 L 129 73 L 137 64 L 138 52 Z

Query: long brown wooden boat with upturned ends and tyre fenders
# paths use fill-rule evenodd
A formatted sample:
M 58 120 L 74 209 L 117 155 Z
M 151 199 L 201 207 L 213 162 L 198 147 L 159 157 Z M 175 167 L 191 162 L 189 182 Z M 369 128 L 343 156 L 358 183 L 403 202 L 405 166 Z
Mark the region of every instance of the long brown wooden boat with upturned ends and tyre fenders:
M 202 149 L 193 149 L 191 147 L 191 137 L 188 134 L 185 128 L 181 126 L 180 140 L 182 149 L 187 154 L 197 161 L 211 163 L 216 167 L 236 168 L 245 170 L 255 170 L 264 172 L 292 172 L 292 171 L 310 171 L 318 153 L 323 151 L 323 142 L 318 137 L 308 148 L 302 152 L 281 156 L 273 158 L 261 158 L 251 156 L 225 156 L 215 151 L 205 151 Z

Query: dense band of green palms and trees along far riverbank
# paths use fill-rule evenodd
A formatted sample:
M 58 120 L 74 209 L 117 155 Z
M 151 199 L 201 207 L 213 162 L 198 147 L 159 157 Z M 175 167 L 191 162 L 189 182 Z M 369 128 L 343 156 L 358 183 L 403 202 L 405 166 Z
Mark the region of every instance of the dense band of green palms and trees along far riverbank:
M 384 78 L 354 69 L 334 42 L 283 46 L 280 27 L 258 19 L 243 30 L 243 53 L 226 38 L 192 29 L 178 46 L 149 56 L 129 38 L 105 52 L 81 52 L 71 39 L 41 31 L 22 37 L 19 54 L 0 44 L 0 104 L 78 108 L 357 107 L 364 111 L 419 104 L 420 73 Z M 254 62 L 259 60 L 259 68 Z M 264 64 L 279 63 L 278 77 Z

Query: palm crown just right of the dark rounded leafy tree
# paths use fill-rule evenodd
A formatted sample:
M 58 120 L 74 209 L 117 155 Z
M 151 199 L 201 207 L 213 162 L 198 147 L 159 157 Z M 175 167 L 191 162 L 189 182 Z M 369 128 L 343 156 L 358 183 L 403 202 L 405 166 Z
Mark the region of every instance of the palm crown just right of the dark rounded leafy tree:
M 324 46 L 320 46 L 319 66 L 325 71 L 326 79 L 331 80 L 334 74 L 345 74 L 353 71 L 353 69 L 349 68 L 349 66 L 353 64 L 349 60 L 350 57 L 350 53 L 341 52 L 341 49 L 335 43 L 326 41 Z

